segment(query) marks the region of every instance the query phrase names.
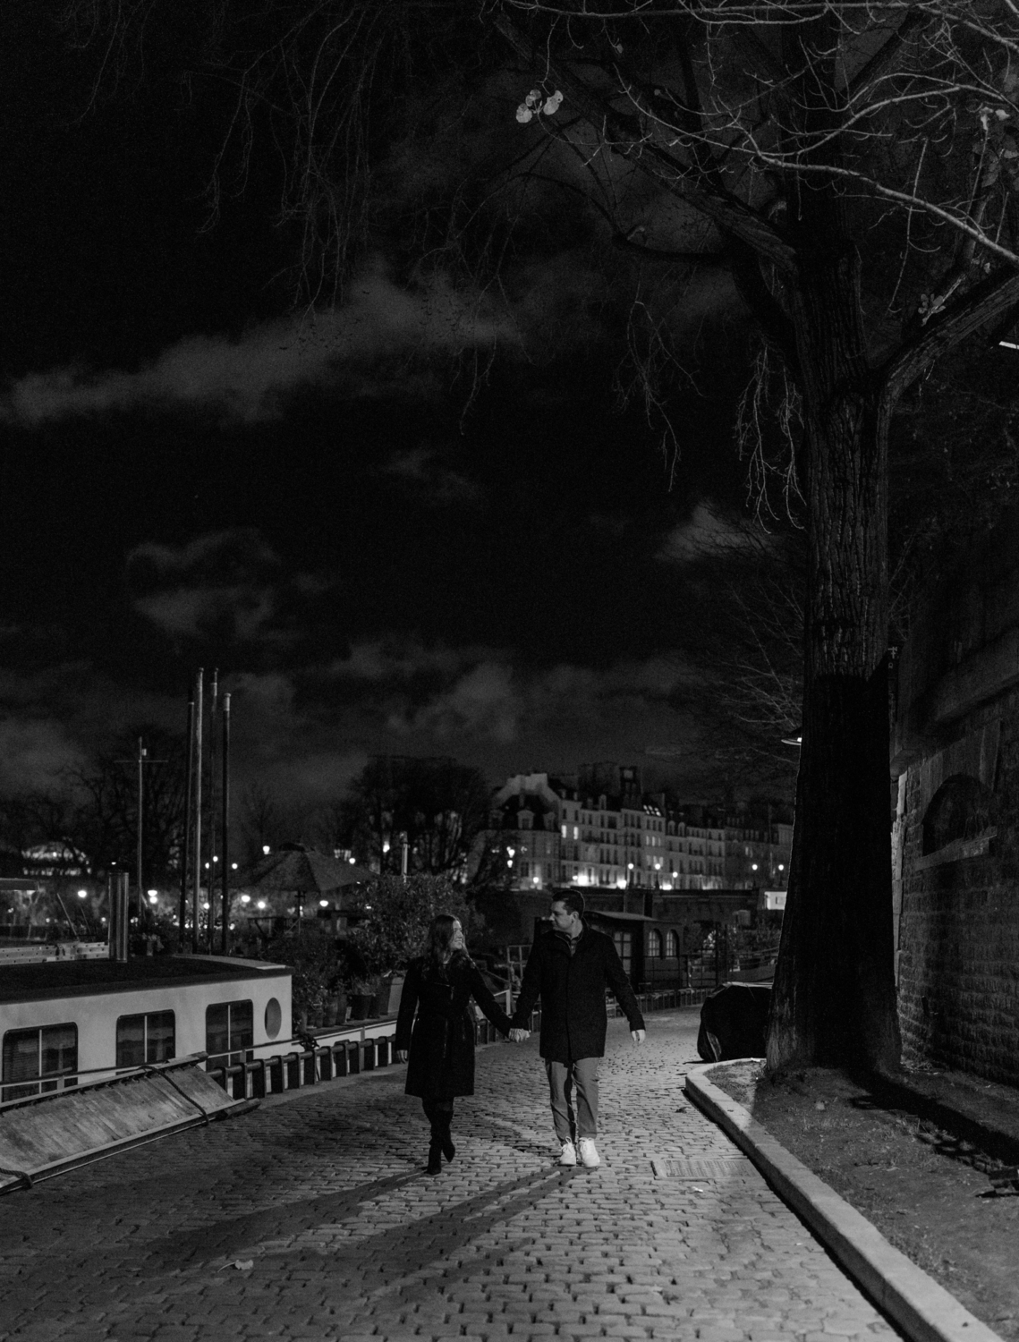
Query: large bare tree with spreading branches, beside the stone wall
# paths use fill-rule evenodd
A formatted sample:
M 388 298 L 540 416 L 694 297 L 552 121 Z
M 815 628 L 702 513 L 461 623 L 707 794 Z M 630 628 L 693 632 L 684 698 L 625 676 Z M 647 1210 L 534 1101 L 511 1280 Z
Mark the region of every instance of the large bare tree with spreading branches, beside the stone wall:
M 536 81 L 518 119 L 583 160 L 620 244 L 728 267 L 764 341 L 750 425 L 781 382 L 785 464 L 750 443 L 803 499 L 808 584 L 768 1056 L 894 1066 L 889 424 L 1019 301 L 1015 13 L 506 0 L 493 21 Z

